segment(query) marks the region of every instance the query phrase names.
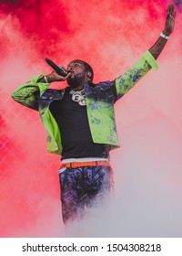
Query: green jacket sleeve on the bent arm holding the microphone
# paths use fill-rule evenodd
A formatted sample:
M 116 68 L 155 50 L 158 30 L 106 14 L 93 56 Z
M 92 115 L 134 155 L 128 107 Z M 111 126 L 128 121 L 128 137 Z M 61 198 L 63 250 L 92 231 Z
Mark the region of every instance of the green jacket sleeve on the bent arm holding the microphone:
M 50 86 L 50 83 L 37 82 L 37 80 L 43 77 L 44 75 L 35 76 L 33 77 L 33 80 L 30 80 L 18 87 L 12 93 L 12 98 L 25 107 L 38 111 L 39 98 Z

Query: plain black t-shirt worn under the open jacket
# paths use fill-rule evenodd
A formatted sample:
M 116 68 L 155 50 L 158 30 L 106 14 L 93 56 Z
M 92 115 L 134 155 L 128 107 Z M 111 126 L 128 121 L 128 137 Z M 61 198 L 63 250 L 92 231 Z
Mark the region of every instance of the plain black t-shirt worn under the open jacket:
M 72 101 L 66 89 L 62 100 L 53 101 L 50 111 L 58 123 L 63 145 L 62 160 L 78 157 L 107 157 L 104 144 L 95 144 L 89 129 L 86 106 Z

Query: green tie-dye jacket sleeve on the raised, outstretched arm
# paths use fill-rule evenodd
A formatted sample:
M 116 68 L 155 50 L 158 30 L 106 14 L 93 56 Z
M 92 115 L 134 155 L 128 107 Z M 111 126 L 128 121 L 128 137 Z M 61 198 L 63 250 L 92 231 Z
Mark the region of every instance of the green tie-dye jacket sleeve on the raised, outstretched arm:
M 131 69 L 116 78 L 116 100 L 133 88 L 136 82 L 145 76 L 151 68 L 158 69 L 158 65 L 156 59 L 147 50 Z

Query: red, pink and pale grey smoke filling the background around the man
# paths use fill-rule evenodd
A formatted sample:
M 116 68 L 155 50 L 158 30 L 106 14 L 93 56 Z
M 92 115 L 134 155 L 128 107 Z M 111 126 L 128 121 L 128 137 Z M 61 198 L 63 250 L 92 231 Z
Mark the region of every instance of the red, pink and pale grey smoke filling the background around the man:
M 169 1 L 0 1 L 0 236 L 181 237 L 181 1 L 159 69 L 116 102 L 121 147 L 111 152 L 115 192 L 108 205 L 64 227 L 59 156 L 46 152 L 38 113 L 11 99 L 45 58 L 84 59 L 95 82 L 113 80 L 164 29 Z M 59 83 L 51 85 L 60 88 Z

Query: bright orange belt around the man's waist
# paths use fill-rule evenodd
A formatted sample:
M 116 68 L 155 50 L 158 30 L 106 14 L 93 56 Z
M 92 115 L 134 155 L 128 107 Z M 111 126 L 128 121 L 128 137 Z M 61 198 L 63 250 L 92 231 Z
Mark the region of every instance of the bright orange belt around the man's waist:
M 83 167 L 83 166 L 110 166 L 108 161 L 89 161 L 89 162 L 72 162 L 72 163 L 64 163 L 61 165 L 60 169 L 62 168 L 76 168 L 76 167 Z

